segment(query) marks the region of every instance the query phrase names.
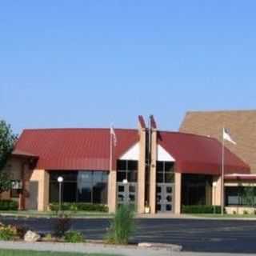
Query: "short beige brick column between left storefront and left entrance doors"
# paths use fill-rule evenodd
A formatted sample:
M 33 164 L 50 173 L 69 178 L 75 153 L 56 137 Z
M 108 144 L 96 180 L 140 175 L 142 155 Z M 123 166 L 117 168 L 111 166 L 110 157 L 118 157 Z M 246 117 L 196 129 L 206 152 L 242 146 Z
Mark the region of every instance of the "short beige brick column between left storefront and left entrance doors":
M 114 214 L 117 206 L 117 171 L 116 170 L 110 170 L 109 178 L 108 178 L 107 193 L 108 193 L 107 204 L 109 207 L 109 212 L 111 214 Z

